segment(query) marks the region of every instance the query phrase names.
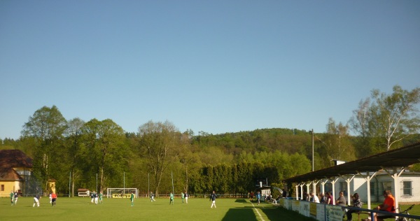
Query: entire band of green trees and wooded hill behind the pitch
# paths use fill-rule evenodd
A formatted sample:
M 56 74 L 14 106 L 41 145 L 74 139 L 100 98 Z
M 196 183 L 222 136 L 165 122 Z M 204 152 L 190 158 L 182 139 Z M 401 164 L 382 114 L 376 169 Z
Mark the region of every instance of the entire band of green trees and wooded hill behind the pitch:
M 0 140 L 0 148 L 32 157 L 45 192 L 54 179 L 59 194 L 123 183 L 145 193 L 169 193 L 173 178 L 176 192 L 245 193 L 255 189 L 255 178 L 279 184 L 311 171 L 311 136 L 315 169 L 332 166 L 332 159 L 351 161 L 419 142 L 419 101 L 418 87 L 407 91 L 396 85 L 392 94 L 372 90 L 349 122 L 330 118 L 326 131 L 314 134 L 278 128 L 195 135 L 169 121 L 149 121 L 127 133 L 111 119 L 66 120 L 56 106 L 43 106 L 25 122 L 18 140 Z

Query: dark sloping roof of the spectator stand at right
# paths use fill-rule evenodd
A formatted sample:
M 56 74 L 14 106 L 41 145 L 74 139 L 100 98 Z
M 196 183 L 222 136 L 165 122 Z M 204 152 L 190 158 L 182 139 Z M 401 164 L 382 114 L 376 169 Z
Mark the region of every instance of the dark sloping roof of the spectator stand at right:
M 420 143 L 414 143 L 402 148 L 346 162 L 337 166 L 328 167 L 318 171 L 305 173 L 283 180 L 283 183 L 302 183 L 323 178 L 332 178 L 346 174 L 375 172 L 381 169 L 406 167 L 420 162 Z

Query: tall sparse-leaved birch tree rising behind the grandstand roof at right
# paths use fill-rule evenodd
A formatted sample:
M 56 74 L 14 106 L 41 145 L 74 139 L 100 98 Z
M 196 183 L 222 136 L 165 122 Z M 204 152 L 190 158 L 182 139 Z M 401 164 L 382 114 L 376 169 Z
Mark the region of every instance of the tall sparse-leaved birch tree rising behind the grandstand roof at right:
M 360 101 L 349 120 L 360 138 L 362 155 L 390 150 L 395 143 L 419 133 L 419 87 L 408 91 L 395 85 L 392 94 L 372 90 L 371 99 Z

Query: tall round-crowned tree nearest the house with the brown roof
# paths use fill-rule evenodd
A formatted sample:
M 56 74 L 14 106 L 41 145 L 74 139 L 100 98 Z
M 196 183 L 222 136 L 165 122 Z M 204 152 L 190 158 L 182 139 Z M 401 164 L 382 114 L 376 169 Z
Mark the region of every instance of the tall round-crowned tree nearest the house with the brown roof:
M 29 117 L 23 126 L 22 136 L 32 136 L 37 140 L 34 153 L 34 173 L 43 183 L 43 190 L 48 192 L 48 180 L 51 178 L 52 157 L 62 144 L 62 137 L 66 129 L 66 119 L 56 106 L 43 106 Z

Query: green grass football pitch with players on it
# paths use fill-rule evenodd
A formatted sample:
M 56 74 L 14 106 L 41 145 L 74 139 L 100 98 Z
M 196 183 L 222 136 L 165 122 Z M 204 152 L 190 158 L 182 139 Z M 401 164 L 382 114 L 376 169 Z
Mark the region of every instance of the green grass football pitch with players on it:
M 8 198 L 0 199 L 0 220 L 312 220 L 293 211 L 272 204 L 257 205 L 248 199 L 216 199 L 217 208 L 210 208 L 209 199 L 188 199 L 182 204 L 175 199 L 158 198 L 151 202 L 146 198 L 104 199 L 103 204 L 92 204 L 90 198 L 59 197 L 51 206 L 48 197 L 40 199 L 40 206 L 32 207 L 31 197 L 19 197 L 18 204 L 10 206 Z

